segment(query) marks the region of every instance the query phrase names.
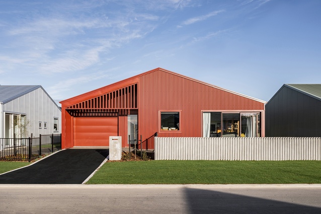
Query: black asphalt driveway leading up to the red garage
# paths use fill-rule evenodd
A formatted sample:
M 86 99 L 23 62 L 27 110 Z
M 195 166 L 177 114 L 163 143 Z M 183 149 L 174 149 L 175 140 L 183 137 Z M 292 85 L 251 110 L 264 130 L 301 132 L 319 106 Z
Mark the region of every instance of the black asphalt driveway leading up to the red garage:
M 107 149 L 69 149 L 0 175 L 0 184 L 81 184 L 109 155 Z

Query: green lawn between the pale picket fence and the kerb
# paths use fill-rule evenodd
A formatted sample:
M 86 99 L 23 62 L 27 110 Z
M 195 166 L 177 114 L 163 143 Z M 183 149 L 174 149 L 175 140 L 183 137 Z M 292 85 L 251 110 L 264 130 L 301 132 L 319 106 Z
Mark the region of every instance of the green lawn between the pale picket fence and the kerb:
M 107 162 L 87 184 L 321 183 L 321 161 Z

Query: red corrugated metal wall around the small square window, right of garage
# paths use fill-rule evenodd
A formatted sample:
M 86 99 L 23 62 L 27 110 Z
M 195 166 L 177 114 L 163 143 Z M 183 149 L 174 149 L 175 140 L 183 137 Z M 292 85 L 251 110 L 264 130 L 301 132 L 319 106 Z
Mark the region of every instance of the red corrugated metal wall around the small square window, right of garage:
M 202 136 L 202 110 L 263 111 L 265 104 L 162 69 L 141 75 L 138 88 L 139 132 L 148 149 L 156 131 L 159 137 Z M 181 112 L 179 131 L 160 130 L 159 111 L 166 110 Z

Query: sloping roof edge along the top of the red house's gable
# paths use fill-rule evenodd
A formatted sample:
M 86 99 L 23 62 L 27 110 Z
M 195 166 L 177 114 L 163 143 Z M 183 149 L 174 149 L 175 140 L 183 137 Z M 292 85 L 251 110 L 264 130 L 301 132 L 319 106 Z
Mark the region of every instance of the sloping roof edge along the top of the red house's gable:
M 62 100 L 60 101 L 59 103 L 66 103 L 67 106 L 69 105 L 73 105 L 75 104 L 76 102 L 74 102 L 74 100 L 77 100 L 79 98 L 82 98 L 83 100 L 86 100 L 86 99 L 91 99 L 93 98 L 94 96 L 98 96 L 97 93 L 105 93 L 106 91 L 108 91 L 109 89 L 110 90 L 115 90 L 116 88 L 118 87 L 123 87 L 124 84 L 125 85 L 128 85 L 128 84 L 133 84 L 133 83 L 137 83 L 138 82 L 138 79 L 141 77 L 141 76 L 144 76 L 144 75 L 147 75 L 149 73 L 152 73 L 152 72 L 157 72 L 157 71 L 161 71 L 161 72 L 166 72 L 166 73 L 170 73 L 172 75 L 176 75 L 176 76 L 179 76 L 181 78 L 184 78 L 184 79 L 188 79 L 188 80 L 191 80 L 191 81 L 194 81 L 194 82 L 198 82 L 198 83 L 201 83 L 203 85 L 207 85 L 209 87 L 213 87 L 213 88 L 216 88 L 216 89 L 219 89 L 219 90 L 222 90 L 222 91 L 225 91 L 225 92 L 229 92 L 229 93 L 232 93 L 232 94 L 235 94 L 235 95 L 239 95 L 239 96 L 242 96 L 242 97 L 245 97 L 245 98 L 249 98 L 249 99 L 252 99 L 252 100 L 255 100 L 255 101 L 258 101 L 258 102 L 261 102 L 261 103 L 266 103 L 266 101 L 263 101 L 263 100 L 259 100 L 259 99 L 256 99 L 256 98 L 253 98 L 253 97 L 250 97 L 250 96 L 247 96 L 247 95 L 243 95 L 243 94 L 239 94 L 237 92 L 233 92 L 233 91 L 229 91 L 229 90 L 226 90 L 226 89 L 223 89 L 223 88 L 220 88 L 220 87 L 217 87 L 217 86 L 214 86 L 214 85 L 211 85 L 211 84 L 208 84 L 208 83 L 205 83 L 205 82 L 202 82 L 202 81 L 199 81 L 199 80 L 196 80 L 196 79 L 193 79 L 193 78 L 190 78 L 190 77 L 187 77 L 187 76 L 184 76 L 184 75 L 181 75 L 181 74 L 178 74 L 178 73 L 175 73 L 175 72 L 172 72 L 170 70 L 167 70 L 167 69 L 164 69 L 164 68 L 161 68 L 161 67 L 157 67 L 155 69 L 152 69 L 152 70 L 149 70 L 148 72 L 145 72 L 145 73 L 142 73 L 142 74 L 139 74 L 139 75 L 136 75 L 136 76 L 133 76 L 133 77 L 130 77 L 130 78 L 127 78 L 125 80 L 122 80 L 122 81 L 119 81 L 119 82 L 116 82 L 116 83 L 113 83 L 113 84 L 110 84 L 110 85 L 107 85 L 107 86 L 104 86 L 102 88 L 99 88 L 99 89 L 95 89 L 93 91 L 90 91 L 90 92 L 87 92 L 87 93 L 84 93 L 84 94 L 81 94 L 81 95 L 77 95 L 75 97 L 71 97 L 71 98 L 68 98 L 66 100 Z M 109 90 L 109 91 L 110 91 Z

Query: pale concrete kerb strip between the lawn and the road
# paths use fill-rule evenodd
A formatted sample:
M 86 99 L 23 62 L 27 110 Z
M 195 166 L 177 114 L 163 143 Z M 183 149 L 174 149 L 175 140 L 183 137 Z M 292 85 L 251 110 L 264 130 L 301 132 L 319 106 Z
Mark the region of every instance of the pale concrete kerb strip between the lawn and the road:
M 0 189 L 321 189 L 321 184 L 0 184 Z

